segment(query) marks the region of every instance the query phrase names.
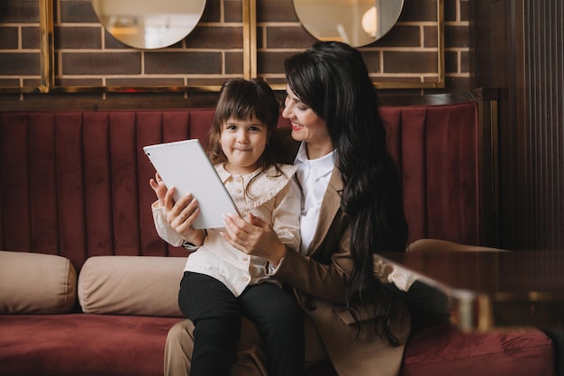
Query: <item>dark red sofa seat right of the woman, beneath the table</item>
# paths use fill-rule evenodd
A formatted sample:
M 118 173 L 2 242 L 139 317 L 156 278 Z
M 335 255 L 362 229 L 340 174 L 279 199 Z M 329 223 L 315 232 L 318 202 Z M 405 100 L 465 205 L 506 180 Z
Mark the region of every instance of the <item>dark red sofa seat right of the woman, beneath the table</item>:
M 463 333 L 444 324 L 411 337 L 401 376 L 551 376 L 554 364 L 553 344 L 539 329 Z

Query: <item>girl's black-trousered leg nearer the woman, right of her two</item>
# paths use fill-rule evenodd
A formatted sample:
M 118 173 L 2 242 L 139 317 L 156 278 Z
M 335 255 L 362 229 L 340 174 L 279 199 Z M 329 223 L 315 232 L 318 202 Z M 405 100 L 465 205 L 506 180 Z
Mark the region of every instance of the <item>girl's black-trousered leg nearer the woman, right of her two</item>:
M 266 345 L 268 375 L 303 375 L 304 314 L 296 299 L 273 283 L 261 283 L 245 289 L 239 302 Z

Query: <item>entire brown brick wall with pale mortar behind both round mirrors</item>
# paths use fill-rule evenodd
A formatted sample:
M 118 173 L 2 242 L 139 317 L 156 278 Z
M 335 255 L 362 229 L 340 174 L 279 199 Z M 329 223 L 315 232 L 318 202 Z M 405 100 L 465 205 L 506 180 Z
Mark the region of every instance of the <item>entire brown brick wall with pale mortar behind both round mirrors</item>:
M 394 29 L 360 49 L 375 81 L 437 80 L 435 7 L 436 0 L 405 0 Z M 208 86 L 242 77 L 241 0 L 207 0 L 196 29 L 160 50 L 133 49 L 115 40 L 89 0 L 53 0 L 53 8 L 55 87 Z M 39 0 L 0 1 L 0 98 L 23 98 L 23 88 L 41 85 L 39 18 Z M 468 0 L 444 0 L 444 21 L 445 88 L 439 91 L 464 91 L 471 88 Z M 257 0 L 259 77 L 282 84 L 284 58 L 313 41 L 291 0 Z

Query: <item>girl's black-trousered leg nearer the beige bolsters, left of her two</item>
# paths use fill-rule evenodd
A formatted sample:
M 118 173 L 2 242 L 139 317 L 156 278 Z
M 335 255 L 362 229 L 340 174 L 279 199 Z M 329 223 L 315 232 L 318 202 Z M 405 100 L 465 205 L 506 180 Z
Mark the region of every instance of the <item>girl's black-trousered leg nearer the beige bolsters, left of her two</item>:
M 227 376 L 241 336 L 237 299 L 219 280 L 185 272 L 178 305 L 195 326 L 190 376 Z

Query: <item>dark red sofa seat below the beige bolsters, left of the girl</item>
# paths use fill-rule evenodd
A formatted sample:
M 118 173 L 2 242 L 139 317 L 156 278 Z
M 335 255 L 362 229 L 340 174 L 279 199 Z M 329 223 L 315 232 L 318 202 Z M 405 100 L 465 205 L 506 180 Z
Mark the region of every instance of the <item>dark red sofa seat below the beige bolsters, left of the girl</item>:
M 181 319 L 83 313 L 0 315 L 0 374 L 162 375 L 168 329 Z

